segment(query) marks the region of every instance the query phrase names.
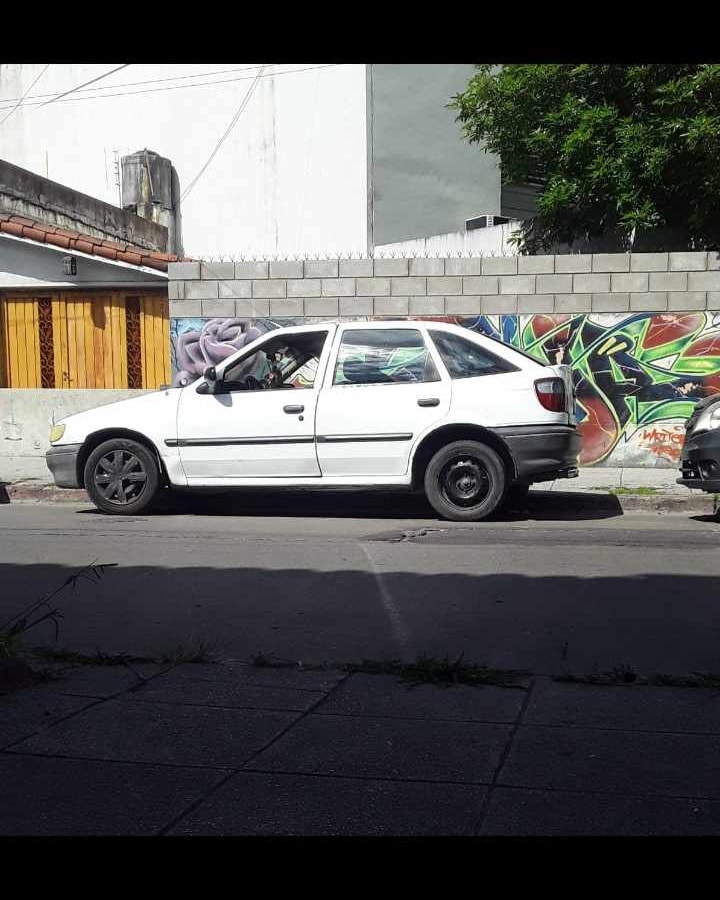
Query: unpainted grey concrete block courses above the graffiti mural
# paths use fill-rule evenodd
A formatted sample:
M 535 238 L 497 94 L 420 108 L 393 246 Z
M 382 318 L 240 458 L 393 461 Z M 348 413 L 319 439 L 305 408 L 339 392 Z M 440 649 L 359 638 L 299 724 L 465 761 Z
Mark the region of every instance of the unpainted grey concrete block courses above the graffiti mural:
M 170 263 L 171 317 L 720 311 L 711 252 Z

